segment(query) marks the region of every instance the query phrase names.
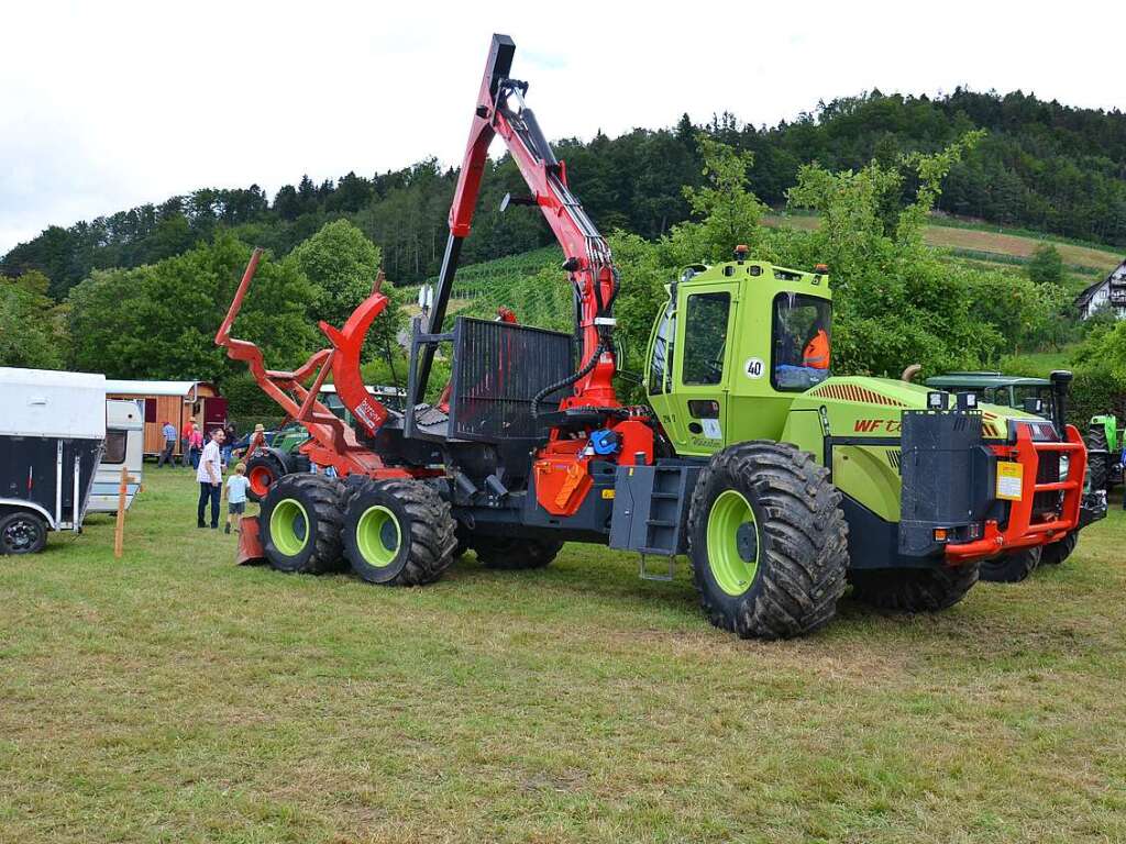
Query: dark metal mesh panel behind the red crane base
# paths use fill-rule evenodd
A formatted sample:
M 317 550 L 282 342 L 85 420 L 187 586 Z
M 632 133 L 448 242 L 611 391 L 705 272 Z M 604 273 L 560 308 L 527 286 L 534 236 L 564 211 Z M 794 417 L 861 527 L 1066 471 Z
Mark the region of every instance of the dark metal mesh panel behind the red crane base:
M 458 317 L 449 436 L 482 441 L 536 439 L 531 399 L 572 372 L 570 334 Z M 540 406 L 555 410 L 568 390 L 556 390 Z

